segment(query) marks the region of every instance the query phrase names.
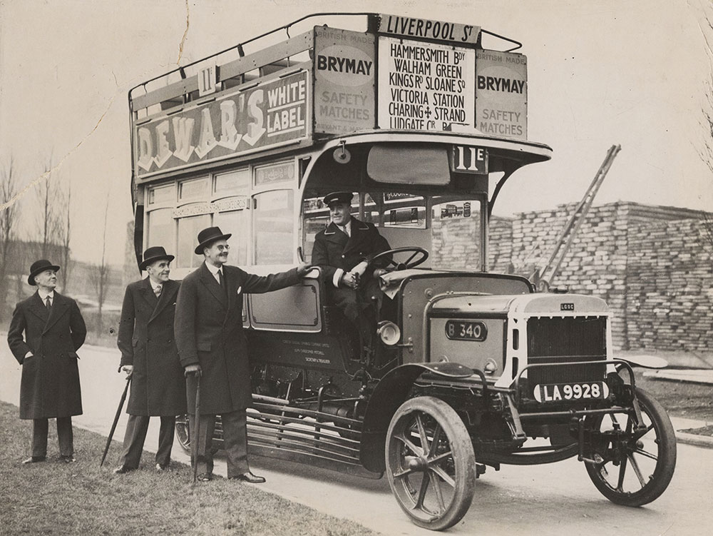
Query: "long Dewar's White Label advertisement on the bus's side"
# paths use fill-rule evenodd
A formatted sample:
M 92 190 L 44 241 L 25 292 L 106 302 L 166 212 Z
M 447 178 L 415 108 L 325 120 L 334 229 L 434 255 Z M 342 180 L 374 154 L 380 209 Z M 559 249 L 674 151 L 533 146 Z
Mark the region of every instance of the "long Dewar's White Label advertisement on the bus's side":
M 143 123 L 134 138 L 138 177 L 306 137 L 308 87 L 301 71 Z

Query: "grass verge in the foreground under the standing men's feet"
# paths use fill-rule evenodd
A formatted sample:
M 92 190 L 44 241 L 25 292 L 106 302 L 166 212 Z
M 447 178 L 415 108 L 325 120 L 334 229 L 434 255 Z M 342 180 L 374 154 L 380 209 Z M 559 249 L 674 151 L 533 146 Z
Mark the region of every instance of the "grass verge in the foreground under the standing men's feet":
M 54 421 L 48 460 L 21 465 L 31 445 L 31 421 L 19 420 L 14 405 L 0 403 L 1 534 L 44 535 L 372 535 L 356 522 L 235 480 L 198 482 L 183 464 L 158 473 L 144 452 L 137 471 L 113 475 L 99 467 L 106 438 L 74 428 L 76 463 L 58 462 Z M 111 452 L 118 452 L 114 442 Z

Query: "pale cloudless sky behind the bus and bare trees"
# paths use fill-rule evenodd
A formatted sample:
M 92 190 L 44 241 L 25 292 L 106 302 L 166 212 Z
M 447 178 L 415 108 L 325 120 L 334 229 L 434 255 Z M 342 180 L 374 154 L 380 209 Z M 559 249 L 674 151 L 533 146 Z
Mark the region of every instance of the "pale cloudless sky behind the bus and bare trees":
M 713 9 L 705 0 L 367 0 L 354 6 L 0 0 L 0 166 L 13 158 L 28 186 L 21 233 L 34 232 L 37 184 L 69 181 L 73 256 L 101 258 L 106 213 L 108 261 L 122 263 L 132 218 L 128 90 L 318 11 L 457 21 L 523 43 L 528 139 L 554 152 L 551 161 L 513 175 L 496 214 L 579 201 L 617 143 L 622 151 L 595 204 L 713 209 L 713 175 L 699 156 L 711 76 L 701 24 L 704 7 L 711 20 Z M 43 176 L 50 162 L 53 171 Z

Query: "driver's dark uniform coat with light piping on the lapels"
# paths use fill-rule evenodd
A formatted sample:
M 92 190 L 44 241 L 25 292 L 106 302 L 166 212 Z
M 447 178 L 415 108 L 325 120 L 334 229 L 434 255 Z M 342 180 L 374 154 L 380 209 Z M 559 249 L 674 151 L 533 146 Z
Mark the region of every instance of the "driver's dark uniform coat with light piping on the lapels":
M 349 272 L 361 261 L 371 261 L 371 258 L 391 249 L 386 238 L 379 234 L 373 223 L 365 223 L 352 218 L 351 236 L 347 236 L 334 222 L 314 237 L 312 249 L 312 264 L 322 269 L 324 286 L 334 305 L 342 310 L 344 315 L 356 322 L 359 318 L 359 308 L 364 309 L 369 305 L 369 298 L 375 293 L 380 293 L 379 284 L 374 280 L 373 273 L 376 268 L 384 268 L 388 258 L 381 258 L 371 264 L 364 273 L 359 285 L 362 288 L 364 301 L 357 303 L 354 289 L 343 283 L 335 285 L 335 273 Z

